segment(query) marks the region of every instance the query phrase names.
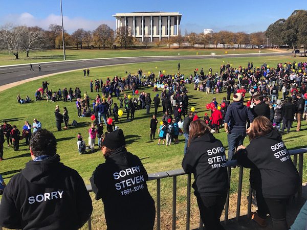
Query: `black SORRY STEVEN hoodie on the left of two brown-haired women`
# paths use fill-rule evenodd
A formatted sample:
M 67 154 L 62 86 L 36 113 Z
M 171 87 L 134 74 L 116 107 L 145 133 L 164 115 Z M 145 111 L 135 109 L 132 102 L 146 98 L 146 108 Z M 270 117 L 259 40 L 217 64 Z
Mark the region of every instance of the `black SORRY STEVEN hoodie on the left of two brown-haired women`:
M 193 173 L 195 195 L 219 196 L 228 190 L 225 148 L 212 133 L 196 137 L 191 141 L 182 160 L 186 173 Z

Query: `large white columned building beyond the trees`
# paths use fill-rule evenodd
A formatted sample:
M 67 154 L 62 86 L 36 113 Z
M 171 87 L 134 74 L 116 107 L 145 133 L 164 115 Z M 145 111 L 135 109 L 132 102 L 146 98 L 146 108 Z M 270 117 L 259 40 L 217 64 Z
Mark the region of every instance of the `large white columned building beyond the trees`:
M 135 12 L 116 13 L 116 29 L 127 26 L 133 37 L 144 41 L 167 39 L 177 36 L 181 14 L 179 12 Z

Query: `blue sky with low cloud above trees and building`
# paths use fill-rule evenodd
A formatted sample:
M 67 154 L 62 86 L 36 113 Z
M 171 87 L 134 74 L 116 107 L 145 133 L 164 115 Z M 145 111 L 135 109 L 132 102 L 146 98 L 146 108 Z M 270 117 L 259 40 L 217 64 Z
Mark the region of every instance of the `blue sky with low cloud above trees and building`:
M 60 0 L 0 0 L 0 26 L 5 24 L 39 26 L 61 25 Z M 115 29 L 115 13 L 136 11 L 179 12 L 181 32 L 229 30 L 246 33 L 265 31 L 279 18 L 288 18 L 294 10 L 306 9 L 302 1 L 208 1 L 208 0 L 62 0 L 64 29 L 94 30 L 100 24 Z

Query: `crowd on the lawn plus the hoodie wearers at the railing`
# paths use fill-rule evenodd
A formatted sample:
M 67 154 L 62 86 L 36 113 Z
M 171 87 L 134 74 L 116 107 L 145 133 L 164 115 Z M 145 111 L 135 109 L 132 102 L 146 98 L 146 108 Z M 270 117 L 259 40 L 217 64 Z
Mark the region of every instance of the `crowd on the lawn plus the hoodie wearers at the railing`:
M 205 74 L 203 68 L 198 74 L 196 68 L 194 76 L 188 78 L 180 72 L 167 75 L 165 71 L 160 71 L 157 77 L 154 73 L 146 76 L 140 69 L 137 75 L 126 73 L 123 79 L 115 76 L 107 78 L 105 83 L 101 79 L 91 81 L 91 92 L 95 87 L 98 93 L 92 104 L 86 92 L 81 98 L 78 87 L 75 92 L 64 88 L 64 93 L 59 89 L 56 94 L 50 94 L 47 81 L 43 82 L 43 90 L 37 90 L 42 96 L 36 94 L 36 99 L 43 98 L 45 91 L 51 101 L 75 97 L 78 117 L 91 117 L 89 148 L 94 151 L 98 139 L 106 161 L 96 168 L 90 181 L 95 198 L 104 203 L 108 229 L 153 229 L 155 223 L 155 202 L 147 189 L 147 172 L 141 160 L 126 150 L 123 131 L 116 126 L 123 116 L 122 109 L 127 122 L 135 118 L 136 109 L 146 109 L 146 113 L 152 115 L 150 140 L 155 139 L 159 124 L 158 145 L 161 141 L 165 146 L 178 144 L 179 135 L 184 136 L 182 167 L 186 173 L 194 174 L 192 187 L 206 229 L 224 229 L 220 217 L 229 189 L 227 157 L 223 143 L 213 135 L 224 127 L 228 160 L 237 159 L 240 165 L 251 169 L 250 182 L 256 191 L 258 208 L 252 219 L 264 227 L 269 214 L 274 229 L 286 230 L 289 229 L 286 204 L 298 191 L 300 179 L 281 134 L 285 128 L 289 133 L 294 121 L 297 122 L 296 131 L 300 131 L 302 119 L 307 119 L 306 68 L 307 62 L 278 63 L 275 68 L 266 63 L 254 67 L 250 62 L 247 68 L 234 68 L 227 63 L 221 65 L 220 74 L 214 74 L 212 68 L 209 74 Z M 84 77 L 85 74 L 86 71 Z M 186 84 L 194 84 L 194 90 L 206 91 L 206 94 L 220 94 L 226 90 L 227 97 L 221 102 L 214 97 L 206 105 L 208 111 L 202 117 L 194 107 L 189 109 Z M 150 93 L 145 93 L 142 87 L 150 87 L 156 96 L 151 100 Z M 132 91 L 132 96 L 127 94 L 128 90 Z M 115 97 L 119 106 L 113 101 Z M 245 99 L 248 99 L 246 105 Z M 155 111 L 150 113 L 152 102 Z M 160 104 L 161 122 L 157 118 L 161 114 Z M 68 127 L 66 107 L 61 113 L 56 106 L 55 117 L 59 131 L 61 123 Z M 250 144 L 244 146 L 246 135 Z M 33 160 L 23 172 L 13 176 L 4 189 L 0 225 L 35 228 L 39 223 L 40 227 L 71 228 L 68 223 L 73 223 L 73 228 L 81 227 L 91 215 L 91 199 L 78 173 L 60 163 L 54 135 L 41 129 L 40 122 L 34 119 L 32 127 L 25 122 L 21 133 L 16 126 L 5 122 L 0 126 L 1 143 L 5 143 L 5 137 L 9 146 L 13 143 L 14 150 L 18 150 L 19 140 L 24 138 Z M 77 139 L 78 151 L 84 153 L 86 146 L 81 133 Z M 0 150 L 0 159 L 3 159 L 3 144 Z M 42 165 L 48 167 L 41 171 Z M 60 181 L 54 182 L 54 178 Z M 24 190 L 21 192 L 19 187 Z M 19 203 L 25 199 L 28 202 L 20 209 Z M 56 211 L 52 214 L 46 213 L 51 200 Z M 121 221 L 117 216 L 121 216 Z M 70 222 L 72 220 L 74 222 Z

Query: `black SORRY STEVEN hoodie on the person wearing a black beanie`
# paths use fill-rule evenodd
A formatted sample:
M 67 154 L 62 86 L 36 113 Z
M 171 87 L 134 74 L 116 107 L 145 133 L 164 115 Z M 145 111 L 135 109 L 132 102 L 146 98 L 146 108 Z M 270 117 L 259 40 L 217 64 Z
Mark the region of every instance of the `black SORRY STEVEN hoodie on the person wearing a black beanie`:
M 155 201 L 148 175 L 138 156 L 118 148 L 90 178 L 96 200 L 102 199 L 108 230 L 143 230 L 155 224 Z

